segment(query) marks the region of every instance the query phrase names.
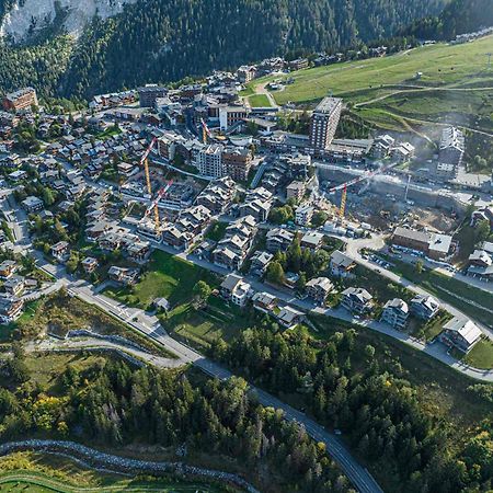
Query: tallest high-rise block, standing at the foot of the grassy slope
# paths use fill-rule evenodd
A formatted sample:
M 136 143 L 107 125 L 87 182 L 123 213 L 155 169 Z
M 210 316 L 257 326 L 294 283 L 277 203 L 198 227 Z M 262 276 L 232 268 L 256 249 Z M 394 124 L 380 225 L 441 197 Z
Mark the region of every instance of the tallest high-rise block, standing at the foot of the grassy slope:
M 341 118 L 342 100 L 324 98 L 313 111 L 310 122 L 310 147 L 328 149 Z

